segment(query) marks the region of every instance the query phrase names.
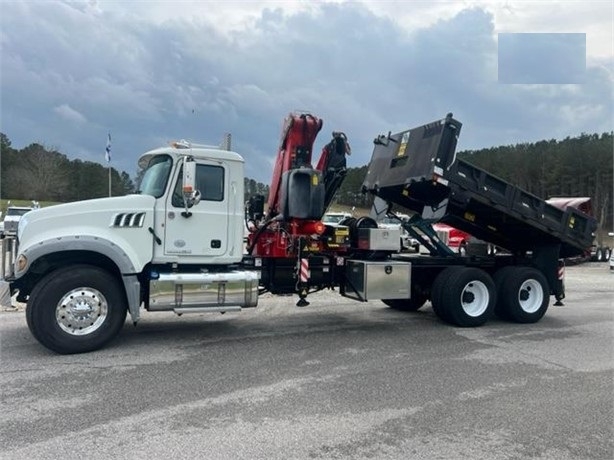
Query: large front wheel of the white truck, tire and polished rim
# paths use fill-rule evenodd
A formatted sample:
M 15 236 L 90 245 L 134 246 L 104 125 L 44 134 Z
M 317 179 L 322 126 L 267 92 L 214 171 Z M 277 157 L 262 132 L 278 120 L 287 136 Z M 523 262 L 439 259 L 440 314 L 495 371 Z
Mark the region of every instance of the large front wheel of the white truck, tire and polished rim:
M 109 272 L 90 265 L 49 273 L 32 290 L 26 319 L 32 335 L 61 354 L 101 348 L 124 325 L 126 297 Z

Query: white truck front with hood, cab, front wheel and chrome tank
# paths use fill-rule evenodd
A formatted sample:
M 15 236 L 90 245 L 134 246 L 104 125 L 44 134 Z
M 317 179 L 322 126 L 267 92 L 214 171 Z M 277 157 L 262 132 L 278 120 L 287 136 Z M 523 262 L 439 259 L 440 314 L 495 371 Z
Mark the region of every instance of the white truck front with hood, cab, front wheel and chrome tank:
M 143 154 L 138 193 L 25 214 L 0 273 L 28 302 L 33 335 L 59 353 L 100 348 L 140 308 L 228 311 L 257 304 L 243 258 L 243 158 L 188 142 Z M 7 252 L 7 250 L 9 252 Z

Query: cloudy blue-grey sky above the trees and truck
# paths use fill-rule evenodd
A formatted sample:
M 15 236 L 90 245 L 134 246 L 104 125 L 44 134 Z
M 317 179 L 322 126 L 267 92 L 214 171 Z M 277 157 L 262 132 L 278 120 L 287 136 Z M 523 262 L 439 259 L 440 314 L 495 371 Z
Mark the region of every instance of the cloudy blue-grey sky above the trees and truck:
M 349 166 L 378 134 L 448 112 L 459 149 L 614 127 L 605 1 L 0 0 L 0 131 L 133 175 L 171 140 L 233 135 L 269 182 L 283 118 L 344 131 Z

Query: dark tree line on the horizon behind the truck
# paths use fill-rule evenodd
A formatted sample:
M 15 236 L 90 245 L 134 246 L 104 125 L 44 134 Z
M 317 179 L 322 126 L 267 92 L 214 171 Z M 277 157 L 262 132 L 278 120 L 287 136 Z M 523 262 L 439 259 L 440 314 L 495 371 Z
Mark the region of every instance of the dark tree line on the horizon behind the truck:
M 90 161 L 69 160 L 55 149 L 33 143 L 16 150 L 0 133 L 0 196 L 13 199 L 69 202 L 108 196 L 107 167 Z M 464 159 L 540 198 L 587 196 L 602 228 L 611 230 L 614 135 L 581 134 L 563 140 L 491 147 L 459 152 Z M 334 204 L 368 208 L 371 197 L 361 193 L 367 166 L 348 168 Z M 111 194 L 136 191 L 125 171 L 111 168 Z M 245 178 L 245 201 L 269 193 L 269 186 Z

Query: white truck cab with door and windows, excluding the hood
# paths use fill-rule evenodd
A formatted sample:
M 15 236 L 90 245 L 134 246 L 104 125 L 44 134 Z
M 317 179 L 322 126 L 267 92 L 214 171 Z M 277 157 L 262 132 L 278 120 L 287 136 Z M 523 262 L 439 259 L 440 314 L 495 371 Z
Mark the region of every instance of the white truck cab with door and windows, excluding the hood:
M 184 202 L 184 165 L 198 200 Z M 155 198 L 152 263 L 225 265 L 243 255 L 243 158 L 212 146 L 174 143 L 142 155 L 139 194 Z M 159 241 L 159 242 L 158 242 Z

